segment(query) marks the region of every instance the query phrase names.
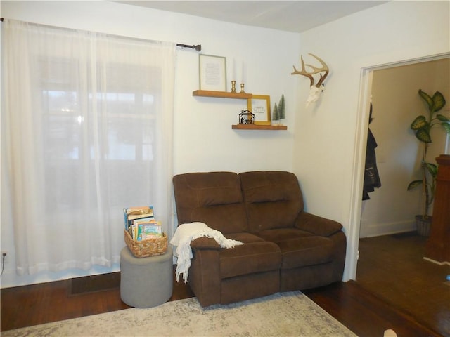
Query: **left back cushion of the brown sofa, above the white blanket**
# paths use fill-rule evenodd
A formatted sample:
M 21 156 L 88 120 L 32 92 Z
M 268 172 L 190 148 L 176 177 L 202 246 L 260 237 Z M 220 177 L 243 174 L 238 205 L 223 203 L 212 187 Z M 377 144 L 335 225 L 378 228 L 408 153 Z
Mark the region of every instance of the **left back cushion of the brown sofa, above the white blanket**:
M 173 183 L 179 225 L 200 221 L 223 234 L 248 230 L 237 173 L 184 173 Z

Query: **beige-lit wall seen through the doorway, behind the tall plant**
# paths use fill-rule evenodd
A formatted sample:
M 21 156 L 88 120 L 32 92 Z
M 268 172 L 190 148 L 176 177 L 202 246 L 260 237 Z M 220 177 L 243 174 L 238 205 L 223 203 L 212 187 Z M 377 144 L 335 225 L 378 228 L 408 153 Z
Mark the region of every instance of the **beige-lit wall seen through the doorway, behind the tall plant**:
M 418 89 L 429 95 L 440 91 L 449 102 L 439 114 L 450 117 L 450 58 L 390 67 L 373 72 L 373 117 L 370 128 L 376 149 L 381 188 L 369 193 L 361 215 L 359 237 L 416 230 L 414 216 L 421 211 L 421 189 L 408 191 L 411 180 L 420 179 L 423 143 L 409 128 L 428 107 Z M 445 151 L 444 128 L 432 128 L 428 161 Z M 432 206 L 430 206 L 432 214 Z

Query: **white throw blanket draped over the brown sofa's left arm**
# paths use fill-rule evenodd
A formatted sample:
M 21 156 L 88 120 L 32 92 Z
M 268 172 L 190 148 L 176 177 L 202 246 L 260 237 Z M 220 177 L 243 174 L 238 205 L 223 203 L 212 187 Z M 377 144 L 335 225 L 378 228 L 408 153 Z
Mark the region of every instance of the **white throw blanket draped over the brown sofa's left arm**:
M 178 258 L 176 261 L 176 281 L 180 280 L 180 274 L 183 274 L 184 283 L 188 282 L 188 270 L 191 267 L 192 249 L 191 241 L 198 237 L 211 237 L 222 248 L 233 248 L 243 244 L 240 241 L 226 239 L 218 230 L 213 230 L 205 223 L 184 223 L 176 228 L 174 237 L 170 240 L 170 244 L 176 246 L 174 256 Z

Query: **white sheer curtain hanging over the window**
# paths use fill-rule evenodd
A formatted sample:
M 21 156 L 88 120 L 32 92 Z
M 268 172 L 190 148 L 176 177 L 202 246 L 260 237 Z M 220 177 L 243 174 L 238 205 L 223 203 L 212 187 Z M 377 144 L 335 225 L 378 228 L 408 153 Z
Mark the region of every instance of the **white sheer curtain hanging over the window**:
M 176 46 L 15 20 L 2 33 L 1 216 L 18 275 L 118 262 L 127 206 L 153 205 L 172 237 Z

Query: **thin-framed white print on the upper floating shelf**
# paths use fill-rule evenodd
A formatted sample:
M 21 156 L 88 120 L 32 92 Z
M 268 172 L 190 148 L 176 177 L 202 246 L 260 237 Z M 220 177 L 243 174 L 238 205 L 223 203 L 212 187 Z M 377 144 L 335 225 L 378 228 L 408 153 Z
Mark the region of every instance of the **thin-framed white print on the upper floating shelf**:
M 226 91 L 226 58 L 199 55 L 200 90 Z

